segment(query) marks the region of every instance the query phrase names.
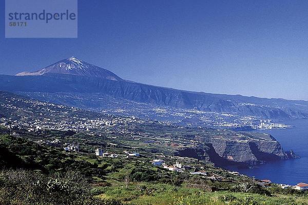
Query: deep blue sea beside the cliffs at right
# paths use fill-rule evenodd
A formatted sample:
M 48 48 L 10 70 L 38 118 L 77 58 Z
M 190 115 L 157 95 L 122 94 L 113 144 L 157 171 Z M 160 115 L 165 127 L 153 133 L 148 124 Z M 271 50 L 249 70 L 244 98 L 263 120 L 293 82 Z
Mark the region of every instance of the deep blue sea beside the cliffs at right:
M 299 182 L 308 183 L 308 119 L 290 120 L 284 123 L 294 127 L 281 130 L 258 130 L 257 132 L 271 134 L 280 142 L 284 151 L 292 149 L 301 158 L 270 162 L 251 168 L 227 167 L 227 169 L 286 185 L 296 185 Z

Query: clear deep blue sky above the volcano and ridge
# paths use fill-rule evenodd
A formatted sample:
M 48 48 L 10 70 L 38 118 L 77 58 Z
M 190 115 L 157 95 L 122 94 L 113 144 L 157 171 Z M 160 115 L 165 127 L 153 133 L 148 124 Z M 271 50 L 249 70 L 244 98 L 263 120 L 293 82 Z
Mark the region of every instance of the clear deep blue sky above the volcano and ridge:
M 5 39 L 0 15 L 0 73 L 74 55 L 140 83 L 308 100 L 307 1 L 78 4 L 76 39 Z

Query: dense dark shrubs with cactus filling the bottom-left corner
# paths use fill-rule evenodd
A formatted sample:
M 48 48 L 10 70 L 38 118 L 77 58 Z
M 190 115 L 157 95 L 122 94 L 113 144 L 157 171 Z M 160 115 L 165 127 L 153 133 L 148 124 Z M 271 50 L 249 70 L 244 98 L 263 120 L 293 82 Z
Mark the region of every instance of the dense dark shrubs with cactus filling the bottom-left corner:
M 0 172 L 0 204 L 57 205 L 57 204 L 121 204 L 104 201 L 90 194 L 87 179 L 80 173 L 68 171 L 44 175 L 25 170 Z

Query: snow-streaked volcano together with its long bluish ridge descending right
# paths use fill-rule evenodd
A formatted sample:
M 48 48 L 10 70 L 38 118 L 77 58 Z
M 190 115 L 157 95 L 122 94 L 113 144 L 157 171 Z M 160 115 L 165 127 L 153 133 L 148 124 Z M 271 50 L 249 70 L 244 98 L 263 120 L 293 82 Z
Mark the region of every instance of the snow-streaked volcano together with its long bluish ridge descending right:
M 174 108 L 237 113 L 271 119 L 308 117 L 308 101 L 190 92 L 134 83 L 75 57 L 61 60 L 34 73 L 0 75 L 0 90 L 95 95 L 101 93 L 138 103 Z M 97 99 L 91 99 L 91 102 L 95 100 Z M 86 105 L 89 105 L 87 99 L 84 106 Z

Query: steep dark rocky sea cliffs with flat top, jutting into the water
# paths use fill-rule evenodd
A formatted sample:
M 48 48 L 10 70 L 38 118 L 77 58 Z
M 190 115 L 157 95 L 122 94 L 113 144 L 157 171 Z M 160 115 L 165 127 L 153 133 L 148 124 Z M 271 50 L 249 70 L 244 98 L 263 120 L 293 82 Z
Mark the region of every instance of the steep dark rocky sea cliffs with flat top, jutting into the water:
M 285 152 L 280 143 L 268 134 L 234 132 L 234 135 L 198 136 L 196 139 L 203 145 L 182 149 L 178 155 L 208 158 L 218 165 L 259 165 L 300 157 L 292 150 Z

